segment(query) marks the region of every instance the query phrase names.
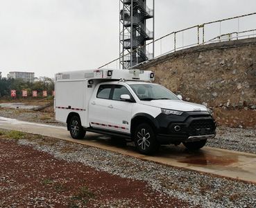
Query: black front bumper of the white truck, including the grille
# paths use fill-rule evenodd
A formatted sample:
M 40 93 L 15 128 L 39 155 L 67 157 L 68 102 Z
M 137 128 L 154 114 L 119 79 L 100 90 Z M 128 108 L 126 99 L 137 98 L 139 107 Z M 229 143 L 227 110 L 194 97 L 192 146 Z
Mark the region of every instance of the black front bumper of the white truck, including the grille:
M 185 112 L 182 116 L 160 114 L 156 119 L 160 144 L 180 144 L 215 137 L 216 123 L 208 112 Z M 178 131 L 176 126 L 180 127 Z

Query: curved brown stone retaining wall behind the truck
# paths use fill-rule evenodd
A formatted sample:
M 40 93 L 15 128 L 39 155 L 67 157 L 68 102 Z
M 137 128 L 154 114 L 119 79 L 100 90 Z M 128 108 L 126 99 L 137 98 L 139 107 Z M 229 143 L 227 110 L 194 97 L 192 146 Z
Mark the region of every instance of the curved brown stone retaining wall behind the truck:
M 196 46 L 139 68 L 154 71 L 156 83 L 186 101 L 256 108 L 256 38 Z

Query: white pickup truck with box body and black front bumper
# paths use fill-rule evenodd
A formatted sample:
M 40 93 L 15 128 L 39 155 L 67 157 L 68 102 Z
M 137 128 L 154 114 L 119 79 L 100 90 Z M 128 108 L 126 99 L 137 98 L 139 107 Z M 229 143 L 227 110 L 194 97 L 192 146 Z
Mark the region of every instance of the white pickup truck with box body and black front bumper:
M 153 80 L 154 73 L 139 69 L 57 73 L 56 120 L 67 123 L 74 139 L 85 132 L 133 139 L 145 155 L 161 144 L 205 146 L 216 128 L 207 107 L 182 101 Z

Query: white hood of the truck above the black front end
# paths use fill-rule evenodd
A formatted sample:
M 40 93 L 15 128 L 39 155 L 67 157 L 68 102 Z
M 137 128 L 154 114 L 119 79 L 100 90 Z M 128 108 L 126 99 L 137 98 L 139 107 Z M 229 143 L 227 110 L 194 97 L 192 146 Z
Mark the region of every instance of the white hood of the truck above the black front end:
M 169 110 L 179 110 L 183 112 L 188 111 L 207 111 L 205 105 L 196 103 L 189 103 L 180 100 L 153 100 L 153 101 L 141 101 L 143 105 L 149 105 L 153 107 L 160 107 Z

